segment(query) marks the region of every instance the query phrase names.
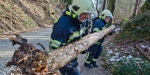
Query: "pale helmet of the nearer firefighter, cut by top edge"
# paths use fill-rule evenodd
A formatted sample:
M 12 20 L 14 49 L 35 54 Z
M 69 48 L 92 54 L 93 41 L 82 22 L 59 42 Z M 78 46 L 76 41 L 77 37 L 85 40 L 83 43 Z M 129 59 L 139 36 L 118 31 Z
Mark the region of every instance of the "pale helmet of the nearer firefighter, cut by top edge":
M 76 15 L 81 13 L 94 13 L 94 4 L 92 0 L 73 0 L 69 10 L 73 11 Z

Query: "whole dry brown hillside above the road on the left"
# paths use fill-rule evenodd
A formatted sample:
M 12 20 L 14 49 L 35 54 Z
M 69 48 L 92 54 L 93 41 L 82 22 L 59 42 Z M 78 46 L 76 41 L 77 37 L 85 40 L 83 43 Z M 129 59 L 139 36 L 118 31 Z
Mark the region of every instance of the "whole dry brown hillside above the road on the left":
M 1 0 L 0 37 L 51 27 L 64 6 L 53 0 Z

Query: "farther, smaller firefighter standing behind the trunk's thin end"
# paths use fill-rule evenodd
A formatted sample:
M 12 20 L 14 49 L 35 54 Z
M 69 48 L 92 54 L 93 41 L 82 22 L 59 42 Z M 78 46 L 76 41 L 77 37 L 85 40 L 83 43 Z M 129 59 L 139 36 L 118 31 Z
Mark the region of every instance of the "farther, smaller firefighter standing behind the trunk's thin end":
M 110 20 L 110 18 L 113 18 L 113 16 L 109 10 L 106 9 L 102 11 L 99 17 L 93 19 L 93 27 L 91 33 L 105 29 L 107 27 L 107 23 Z M 103 37 L 102 39 L 100 39 L 99 41 L 97 41 L 95 44 L 93 44 L 88 48 L 88 52 L 84 59 L 85 67 L 88 68 L 98 67 L 96 61 L 102 53 L 102 43 L 104 41 L 104 38 L 105 37 Z

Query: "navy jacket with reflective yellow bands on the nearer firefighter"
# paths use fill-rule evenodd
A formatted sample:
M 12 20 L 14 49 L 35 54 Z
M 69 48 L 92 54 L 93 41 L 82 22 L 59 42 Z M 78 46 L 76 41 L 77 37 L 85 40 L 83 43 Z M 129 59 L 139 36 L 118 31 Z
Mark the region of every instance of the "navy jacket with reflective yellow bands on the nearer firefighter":
M 82 38 L 85 28 L 78 16 L 65 11 L 53 26 L 50 47 L 52 49 L 75 42 Z

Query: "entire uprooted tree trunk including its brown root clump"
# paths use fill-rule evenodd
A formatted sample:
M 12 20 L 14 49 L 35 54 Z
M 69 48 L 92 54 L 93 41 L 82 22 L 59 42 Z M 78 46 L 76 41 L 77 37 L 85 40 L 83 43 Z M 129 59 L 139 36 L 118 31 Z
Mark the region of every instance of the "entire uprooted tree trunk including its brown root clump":
M 53 71 L 63 67 L 114 28 L 115 26 L 112 25 L 105 30 L 87 35 L 77 42 L 51 52 L 47 52 L 41 44 L 38 45 L 41 45 L 43 50 L 38 50 L 33 45 L 28 44 L 26 38 L 16 35 L 16 38 L 11 37 L 10 41 L 13 45 L 19 44 L 20 47 L 14 52 L 12 60 L 6 63 L 6 67 L 15 65 L 20 68 L 23 74 L 58 75 Z

